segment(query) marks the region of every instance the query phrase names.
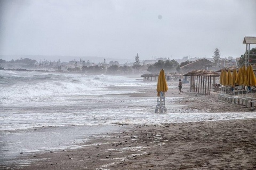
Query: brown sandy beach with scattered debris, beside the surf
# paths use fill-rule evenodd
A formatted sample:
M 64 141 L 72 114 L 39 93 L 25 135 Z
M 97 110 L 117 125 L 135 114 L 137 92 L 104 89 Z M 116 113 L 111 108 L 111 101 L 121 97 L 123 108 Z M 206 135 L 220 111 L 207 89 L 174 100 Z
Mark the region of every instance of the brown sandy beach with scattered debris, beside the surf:
M 174 82 L 177 84 L 177 82 Z M 197 112 L 247 112 L 211 95 L 189 92 L 188 86 L 166 93 Z M 175 94 L 172 94 L 175 93 Z M 156 89 L 126 94 L 156 96 Z M 249 94 L 254 95 L 254 94 Z M 81 149 L 23 156 L 30 164 L 20 169 L 256 169 L 256 120 L 125 126 L 119 133 L 95 137 Z M 10 166 L 12 167 L 12 166 Z M 6 168 L 6 167 L 3 167 Z M 11 168 L 10 168 L 11 169 Z

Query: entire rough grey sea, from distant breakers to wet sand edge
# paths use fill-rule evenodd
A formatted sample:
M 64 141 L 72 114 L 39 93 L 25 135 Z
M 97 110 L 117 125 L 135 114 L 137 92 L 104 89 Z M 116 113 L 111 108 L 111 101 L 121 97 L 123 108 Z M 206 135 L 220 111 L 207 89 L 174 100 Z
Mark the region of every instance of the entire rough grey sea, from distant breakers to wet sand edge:
M 0 70 L 0 165 L 20 164 L 21 155 L 81 148 L 127 126 L 256 117 L 189 110 L 174 96 L 166 96 L 167 113 L 156 114 L 157 96 L 143 97 L 156 85 L 140 75 Z

